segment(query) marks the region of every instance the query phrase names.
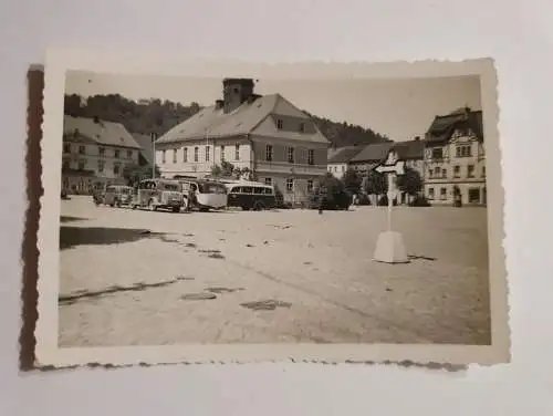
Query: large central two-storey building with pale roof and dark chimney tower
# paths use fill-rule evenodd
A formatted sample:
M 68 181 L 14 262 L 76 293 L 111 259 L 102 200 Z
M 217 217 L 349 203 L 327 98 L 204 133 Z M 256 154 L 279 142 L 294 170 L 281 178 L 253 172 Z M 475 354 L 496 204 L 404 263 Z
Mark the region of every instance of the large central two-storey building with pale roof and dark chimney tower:
M 161 176 L 208 176 L 227 162 L 278 187 L 285 201 L 305 200 L 326 173 L 328 141 L 283 96 L 257 95 L 253 86 L 250 79 L 223 80 L 222 100 L 156 141 Z

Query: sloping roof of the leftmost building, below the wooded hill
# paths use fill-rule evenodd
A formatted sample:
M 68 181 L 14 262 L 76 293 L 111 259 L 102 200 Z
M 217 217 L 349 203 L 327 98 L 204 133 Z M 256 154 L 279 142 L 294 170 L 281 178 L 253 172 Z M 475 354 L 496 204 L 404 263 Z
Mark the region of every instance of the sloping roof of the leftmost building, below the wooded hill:
M 63 118 L 63 135 L 67 137 L 83 136 L 98 145 L 140 148 L 140 145 L 136 143 L 121 123 L 65 115 Z

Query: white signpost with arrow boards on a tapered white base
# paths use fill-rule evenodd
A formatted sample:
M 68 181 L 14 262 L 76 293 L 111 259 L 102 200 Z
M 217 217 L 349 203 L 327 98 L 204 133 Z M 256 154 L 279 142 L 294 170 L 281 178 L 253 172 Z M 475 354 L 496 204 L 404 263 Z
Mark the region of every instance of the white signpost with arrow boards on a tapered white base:
M 394 199 L 397 196 L 396 177 L 405 173 L 405 162 L 397 159 L 397 154 L 390 152 L 386 162 L 375 168 L 379 174 L 386 175 L 388 180 L 388 227 L 386 231 L 380 232 L 376 241 L 376 249 L 373 260 L 384 263 L 408 263 L 407 251 L 404 245 L 404 238 L 400 232 L 392 230 L 392 208 Z

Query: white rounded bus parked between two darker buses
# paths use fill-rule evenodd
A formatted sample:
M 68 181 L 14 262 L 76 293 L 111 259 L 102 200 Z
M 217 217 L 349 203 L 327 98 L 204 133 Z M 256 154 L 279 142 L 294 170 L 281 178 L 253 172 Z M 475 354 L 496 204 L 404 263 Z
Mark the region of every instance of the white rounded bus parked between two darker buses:
M 175 176 L 182 186 L 185 208 L 197 208 L 200 211 L 222 209 L 227 207 L 227 188 L 217 180 L 196 179 Z M 192 197 L 189 200 L 189 197 Z

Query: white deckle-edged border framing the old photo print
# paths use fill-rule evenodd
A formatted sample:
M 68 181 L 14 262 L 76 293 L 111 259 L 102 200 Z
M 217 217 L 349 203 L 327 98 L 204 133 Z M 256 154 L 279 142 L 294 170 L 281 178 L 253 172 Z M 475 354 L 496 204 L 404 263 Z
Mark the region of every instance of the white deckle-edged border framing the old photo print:
M 65 72 L 168 76 L 252 76 L 260 79 L 406 79 L 480 75 L 487 147 L 488 231 L 492 345 L 407 344 L 186 344 L 94 349 L 58 347 L 60 277 L 60 190 Z M 510 361 L 508 284 L 503 250 L 503 187 L 498 134 L 497 75 L 491 59 L 394 63 L 253 63 L 210 61 L 90 50 L 53 50 L 45 60 L 36 365 L 132 365 L 260 361 L 415 362 L 420 364 L 495 364 Z

